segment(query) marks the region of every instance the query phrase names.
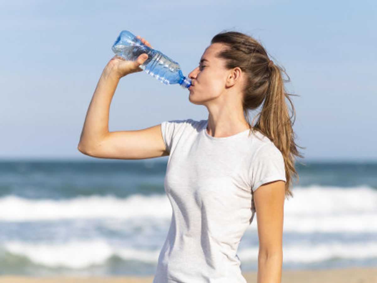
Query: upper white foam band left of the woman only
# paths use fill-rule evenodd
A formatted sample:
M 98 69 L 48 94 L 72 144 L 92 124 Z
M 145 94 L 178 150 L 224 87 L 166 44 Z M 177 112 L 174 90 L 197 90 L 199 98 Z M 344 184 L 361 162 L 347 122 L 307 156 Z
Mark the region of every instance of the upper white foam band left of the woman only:
M 166 195 L 77 197 L 71 200 L 29 200 L 15 196 L 0 198 L 0 221 L 39 221 L 77 218 L 165 218 L 171 216 Z

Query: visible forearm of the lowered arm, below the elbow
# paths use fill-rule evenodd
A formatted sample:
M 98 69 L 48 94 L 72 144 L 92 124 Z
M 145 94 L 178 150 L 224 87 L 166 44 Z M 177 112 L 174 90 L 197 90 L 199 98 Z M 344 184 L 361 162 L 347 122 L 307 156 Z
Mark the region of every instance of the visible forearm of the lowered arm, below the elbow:
M 283 255 L 258 256 L 257 283 L 280 283 Z

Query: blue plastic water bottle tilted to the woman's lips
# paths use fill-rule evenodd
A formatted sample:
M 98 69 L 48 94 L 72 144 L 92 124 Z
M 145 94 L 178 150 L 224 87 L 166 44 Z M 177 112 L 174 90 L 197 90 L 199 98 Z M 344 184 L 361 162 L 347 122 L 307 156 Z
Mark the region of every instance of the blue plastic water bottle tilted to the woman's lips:
M 112 46 L 114 53 L 126 60 L 135 61 L 139 55 L 146 53 L 148 59 L 140 68 L 166 85 L 178 83 L 189 88 L 191 80 L 182 74 L 179 64 L 162 52 L 144 45 L 129 31 L 122 31 Z

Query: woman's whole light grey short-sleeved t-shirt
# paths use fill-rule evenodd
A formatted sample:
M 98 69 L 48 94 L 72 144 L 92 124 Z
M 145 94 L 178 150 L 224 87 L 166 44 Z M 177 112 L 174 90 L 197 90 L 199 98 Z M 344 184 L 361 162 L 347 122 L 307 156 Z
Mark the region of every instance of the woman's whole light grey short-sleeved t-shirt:
M 173 213 L 153 283 L 245 283 L 237 248 L 254 217 L 253 192 L 286 181 L 283 156 L 267 137 L 212 137 L 207 123 L 161 123 Z

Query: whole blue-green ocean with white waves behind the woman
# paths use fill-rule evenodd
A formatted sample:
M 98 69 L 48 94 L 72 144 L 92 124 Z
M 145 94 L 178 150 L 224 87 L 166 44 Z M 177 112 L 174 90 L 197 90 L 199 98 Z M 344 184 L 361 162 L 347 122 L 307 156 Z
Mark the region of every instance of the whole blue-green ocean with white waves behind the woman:
M 0 161 L 0 274 L 153 275 L 172 214 L 167 159 Z M 284 269 L 377 265 L 377 162 L 297 164 Z M 256 217 L 239 244 L 257 269 Z

